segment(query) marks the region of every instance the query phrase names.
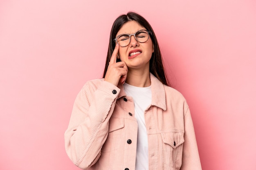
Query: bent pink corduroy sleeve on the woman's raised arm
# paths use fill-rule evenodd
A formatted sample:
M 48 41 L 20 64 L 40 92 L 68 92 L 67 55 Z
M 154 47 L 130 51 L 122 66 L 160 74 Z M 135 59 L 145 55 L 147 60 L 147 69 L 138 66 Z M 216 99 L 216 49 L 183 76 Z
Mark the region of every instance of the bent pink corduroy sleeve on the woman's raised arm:
M 115 85 L 99 81 L 86 83 L 77 95 L 65 131 L 65 149 L 79 168 L 86 169 L 99 159 L 119 92 Z

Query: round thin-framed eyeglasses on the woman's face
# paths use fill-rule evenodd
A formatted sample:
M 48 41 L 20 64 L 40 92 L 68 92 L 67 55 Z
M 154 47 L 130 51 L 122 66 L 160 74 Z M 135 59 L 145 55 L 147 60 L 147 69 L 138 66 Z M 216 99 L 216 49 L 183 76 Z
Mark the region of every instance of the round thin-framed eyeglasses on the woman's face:
M 147 30 L 139 30 L 134 34 L 121 34 L 121 35 L 118 35 L 114 39 L 114 41 L 117 41 L 117 44 L 119 44 L 119 46 L 126 47 L 130 44 L 131 36 L 133 35 L 138 42 L 144 43 L 148 41 L 149 33 L 151 32 Z

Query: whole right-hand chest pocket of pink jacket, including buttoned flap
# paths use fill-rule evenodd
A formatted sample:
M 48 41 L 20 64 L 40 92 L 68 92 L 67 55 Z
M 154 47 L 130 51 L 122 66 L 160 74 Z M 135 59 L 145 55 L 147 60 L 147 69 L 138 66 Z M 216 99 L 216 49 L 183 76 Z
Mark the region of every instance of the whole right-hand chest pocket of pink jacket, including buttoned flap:
M 163 163 L 166 166 L 180 169 L 182 164 L 182 151 L 184 143 L 184 132 L 161 133 L 164 142 L 162 147 Z

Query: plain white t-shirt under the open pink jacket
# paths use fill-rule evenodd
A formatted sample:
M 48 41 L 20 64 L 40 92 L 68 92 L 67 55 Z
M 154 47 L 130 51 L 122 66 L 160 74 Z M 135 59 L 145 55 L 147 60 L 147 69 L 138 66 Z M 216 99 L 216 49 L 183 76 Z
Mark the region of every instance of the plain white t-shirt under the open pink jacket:
M 124 91 L 134 101 L 135 118 L 138 123 L 135 170 L 148 170 L 148 136 L 144 112 L 151 104 L 151 86 L 136 87 L 124 83 Z

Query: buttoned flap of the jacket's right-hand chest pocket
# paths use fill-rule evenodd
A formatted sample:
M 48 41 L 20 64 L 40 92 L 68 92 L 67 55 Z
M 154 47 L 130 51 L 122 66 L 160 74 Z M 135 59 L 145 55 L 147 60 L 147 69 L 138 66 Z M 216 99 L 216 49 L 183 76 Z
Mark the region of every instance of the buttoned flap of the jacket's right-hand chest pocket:
M 183 132 L 165 132 L 161 133 L 161 135 L 164 143 L 170 145 L 174 149 L 184 142 Z

